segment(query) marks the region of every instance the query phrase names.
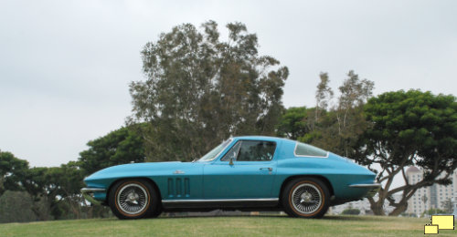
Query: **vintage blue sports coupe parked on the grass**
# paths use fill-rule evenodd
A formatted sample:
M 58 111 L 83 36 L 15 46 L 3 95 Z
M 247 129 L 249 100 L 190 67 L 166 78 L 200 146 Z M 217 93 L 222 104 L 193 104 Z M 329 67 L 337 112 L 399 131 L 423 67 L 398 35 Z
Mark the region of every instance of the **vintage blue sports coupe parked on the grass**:
M 162 211 L 285 211 L 320 218 L 328 207 L 377 192 L 375 173 L 311 145 L 237 137 L 193 162 L 132 163 L 97 171 L 84 197 L 120 219 Z

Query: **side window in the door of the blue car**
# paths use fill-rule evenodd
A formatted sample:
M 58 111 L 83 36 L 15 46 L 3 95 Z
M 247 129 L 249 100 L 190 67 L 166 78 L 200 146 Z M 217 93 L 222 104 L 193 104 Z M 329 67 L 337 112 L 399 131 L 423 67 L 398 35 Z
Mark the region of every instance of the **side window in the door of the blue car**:
M 276 143 L 264 140 L 243 140 L 237 161 L 268 161 L 273 159 Z

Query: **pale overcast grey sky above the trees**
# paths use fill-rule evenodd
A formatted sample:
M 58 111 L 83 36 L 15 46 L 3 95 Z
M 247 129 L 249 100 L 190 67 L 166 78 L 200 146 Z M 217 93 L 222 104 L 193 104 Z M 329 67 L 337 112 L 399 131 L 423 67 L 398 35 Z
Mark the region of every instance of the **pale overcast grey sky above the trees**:
M 289 67 L 286 107 L 314 106 L 320 72 L 375 94 L 457 95 L 457 1 L 0 0 L 0 149 L 31 166 L 77 160 L 131 113 L 140 51 L 173 26 L 239 21 Z

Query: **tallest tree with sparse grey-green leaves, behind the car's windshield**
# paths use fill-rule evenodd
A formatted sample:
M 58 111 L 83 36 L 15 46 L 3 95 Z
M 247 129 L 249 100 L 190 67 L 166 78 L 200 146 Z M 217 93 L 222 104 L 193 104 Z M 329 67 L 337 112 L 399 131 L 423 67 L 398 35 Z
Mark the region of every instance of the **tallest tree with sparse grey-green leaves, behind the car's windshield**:
M 260 56 L 258 38 L 230 23 L 175 26 L 142 52 L 145 81 L 130 85 L 130 122 L 146 122 L 148 160 L 194 160 L 230 135 L 274 135 L 287 67 Z

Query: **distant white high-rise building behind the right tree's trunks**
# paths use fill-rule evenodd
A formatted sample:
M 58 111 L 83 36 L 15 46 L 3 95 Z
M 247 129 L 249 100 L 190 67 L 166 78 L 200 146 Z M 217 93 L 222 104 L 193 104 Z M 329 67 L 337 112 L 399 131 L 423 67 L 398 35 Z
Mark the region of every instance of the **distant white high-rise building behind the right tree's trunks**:
M 422 180 L 423 171 L 417 167 L 411 166 L 406 171 L 406 175 L 410 184 L 415 184 Z M 441 174 L 438 178 L 442 178 L 444 174 Z M 408 201 L 408 213 L 420 216 L 423 211 L 430 209 L 441 209 L 444 210 L 444 201 L 452 201 L 452 198 L 457 197 L 457 172 L 454 171 L 452 174 L 452 184 L 443 186 L 439 184 L 433 184 L 428 187 L 420 188 L 414 193 L 414 195 Z

